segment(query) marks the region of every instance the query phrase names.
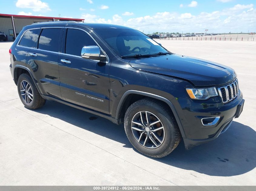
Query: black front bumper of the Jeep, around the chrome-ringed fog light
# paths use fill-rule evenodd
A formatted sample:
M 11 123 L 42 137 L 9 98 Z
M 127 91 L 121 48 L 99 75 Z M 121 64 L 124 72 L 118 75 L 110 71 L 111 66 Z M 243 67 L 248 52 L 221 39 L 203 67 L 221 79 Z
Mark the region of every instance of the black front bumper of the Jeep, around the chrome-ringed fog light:
M 178 104 L 177 112 L 185 132 L 183 137 L 185 148 L 190 149 L 209 142 L 226 131 L 233 118 L 241 114 L 244 100 L 242 92 L 239 91 L 234 100 L 225 104 L 220 97 L 212 97 L 208 100 L 179 98 Z M 214 125 L 206 126 L 202 123 L 202 119 L 209 117 L 219 117 L 219 120 Z

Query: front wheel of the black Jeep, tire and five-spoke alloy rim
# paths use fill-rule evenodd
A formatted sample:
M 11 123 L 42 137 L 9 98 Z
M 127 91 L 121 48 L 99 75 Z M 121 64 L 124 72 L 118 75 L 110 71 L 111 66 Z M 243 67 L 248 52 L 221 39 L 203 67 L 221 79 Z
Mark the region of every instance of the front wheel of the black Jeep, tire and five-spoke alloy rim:
M 142 119 L 144 117 L 145 126 L 138 125 L 141 124 L 140 112 Z M 158 120 L 160 122 L 155 123 Z M 153 125 L 147 124 L 147 121 Z M 155 99 L 145 98 L 131 104 L 125 113 L 124 126 L 127 138 L 133 147 L 153 158 L 161 158 L 170 154 L 181 141 L 181 133 L 170 108 Z M 160 130 L 156 131 L 157 129 Z

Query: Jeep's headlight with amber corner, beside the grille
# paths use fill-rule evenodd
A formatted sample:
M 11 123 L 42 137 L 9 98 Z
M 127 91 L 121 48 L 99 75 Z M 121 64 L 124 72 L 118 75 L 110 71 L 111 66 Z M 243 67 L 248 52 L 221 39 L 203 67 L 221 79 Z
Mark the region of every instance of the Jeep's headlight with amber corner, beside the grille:
M 186 88 L 191 99 L 207 100 L 209 97 L 218 96 L 216 88 Z

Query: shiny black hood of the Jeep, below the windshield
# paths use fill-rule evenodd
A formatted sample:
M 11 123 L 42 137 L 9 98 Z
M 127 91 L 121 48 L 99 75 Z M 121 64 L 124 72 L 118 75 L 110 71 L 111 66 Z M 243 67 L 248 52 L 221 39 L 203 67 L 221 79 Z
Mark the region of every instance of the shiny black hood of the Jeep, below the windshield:
M 195 86 L 226 84 L 236 78 L 232 68 L 177 54 L 131 60 L 131 67 L 190 81 Z

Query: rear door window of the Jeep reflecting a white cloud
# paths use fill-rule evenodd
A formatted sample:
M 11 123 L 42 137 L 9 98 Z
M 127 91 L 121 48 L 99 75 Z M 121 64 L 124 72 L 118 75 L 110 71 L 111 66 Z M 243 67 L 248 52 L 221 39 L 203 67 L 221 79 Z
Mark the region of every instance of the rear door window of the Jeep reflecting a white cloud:
M 60 28 L 43 29 L 38 41 L 38 49 L 58 52 Z

